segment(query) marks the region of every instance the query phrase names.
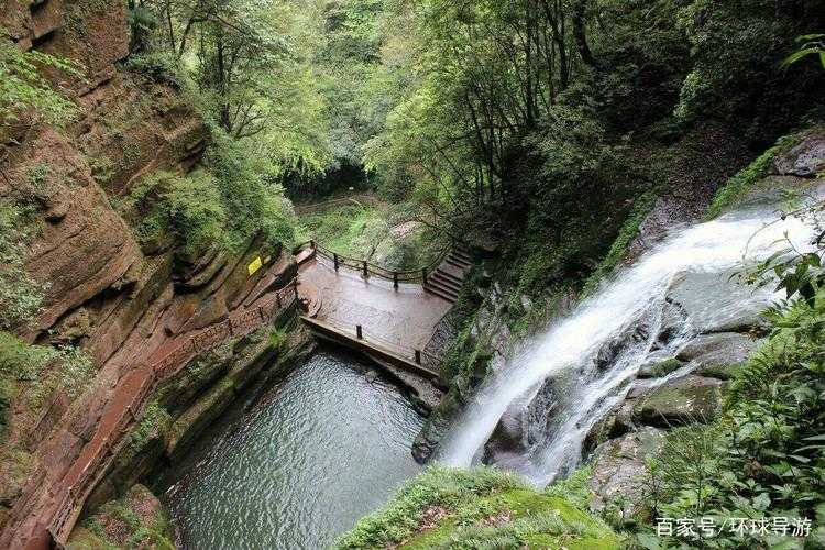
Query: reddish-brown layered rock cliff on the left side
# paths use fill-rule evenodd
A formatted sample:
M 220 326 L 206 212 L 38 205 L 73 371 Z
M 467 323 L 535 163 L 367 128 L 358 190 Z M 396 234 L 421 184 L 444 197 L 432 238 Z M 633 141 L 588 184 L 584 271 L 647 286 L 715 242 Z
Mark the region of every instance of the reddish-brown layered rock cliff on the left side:
M 46 75 L 78 105 L 68 127 L 25 129 L 14 134 L 19 144 L 0 136 L 6 146 L 0 198 L 33 206 L 38 231 L 26 268 L 48 283 L 45 311 L 24 337 L 78 344 L 99 369 L 88 391 L 55 419 L 54 430 L 37 431 L 37 440 L 25 442 L 30 471 L 42 465 L 54 480 L 95 433 L 122 376 L 172 336 L 242 304 L 265 271 L 251 278 L 251 258 L 277 260 L 280 251 L 263 251 L 252 240 L 240 253 L 175 273 L 167 246 L 141 250 L 136 243 L 117 202 L 146 174 L 191 169 L 209 135 L 177 90 L 116 65 L 129 53 L 125 3 L 0 0 L 0 26 L 19 46 L 68 58 L 85 72 L 82 80 Z M 280 267 L 286 276 L 294 266 Z M 0 485 L 7 477 L 0 472 Z

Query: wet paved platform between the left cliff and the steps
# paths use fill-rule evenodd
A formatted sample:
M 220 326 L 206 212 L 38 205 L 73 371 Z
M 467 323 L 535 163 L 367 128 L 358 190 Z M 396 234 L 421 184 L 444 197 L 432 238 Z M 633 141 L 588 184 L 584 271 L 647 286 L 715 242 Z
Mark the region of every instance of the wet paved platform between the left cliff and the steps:
M 404 350 L 426 349 L 452 306 L 420 284 L 402 283 L 396 290 L 391 280 L 377 276 L 364 278 L 348 267 L 336 272 L 331 262 L 319 256 L 300 266 L 299 280 L 299 294 L 308 286 L 318 292 L 318 320 L 353 334 L 355 324 L 361 324 L 365 339 Z

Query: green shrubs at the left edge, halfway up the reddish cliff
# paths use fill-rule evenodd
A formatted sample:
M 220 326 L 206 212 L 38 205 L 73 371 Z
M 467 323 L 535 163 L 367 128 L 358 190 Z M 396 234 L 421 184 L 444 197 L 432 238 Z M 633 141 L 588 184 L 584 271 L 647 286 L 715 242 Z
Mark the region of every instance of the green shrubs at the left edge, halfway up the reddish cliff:
M 0 330 L 31 324 L 43 304 L 43 285 L 24 267 L 31 231 L 26 209 L 0 200 Z

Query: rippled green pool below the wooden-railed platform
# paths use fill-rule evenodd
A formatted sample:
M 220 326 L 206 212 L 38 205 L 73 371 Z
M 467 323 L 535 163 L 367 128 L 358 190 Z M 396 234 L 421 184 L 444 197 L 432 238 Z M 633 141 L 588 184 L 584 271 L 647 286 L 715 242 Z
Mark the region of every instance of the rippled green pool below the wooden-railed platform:
M 322 350 L 216 426 L 166 493 L 183 547 L 326 548 L 416 475 L 422 419 L 369 370 Z

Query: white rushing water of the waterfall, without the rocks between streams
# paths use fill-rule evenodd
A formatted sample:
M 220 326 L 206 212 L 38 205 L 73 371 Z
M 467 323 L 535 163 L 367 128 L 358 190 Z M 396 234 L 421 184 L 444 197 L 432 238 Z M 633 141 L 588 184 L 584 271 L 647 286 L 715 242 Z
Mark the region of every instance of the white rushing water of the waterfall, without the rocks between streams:
M 744 260 L 765 258 L 783 248 L 779 241 L 785 234 L 798 249 L 805 249 L 812 230 L 796 218 L 778 220 L 772 209 L 752 209 L 674 232 L 495 373 L 448 431 L 436 451 L 436 460 L 463 468 L 477 463 L 508 407 L 530 400 L 551 381 L 562 388 L 556 393 L 552 433 L 513 466 L 537 485 L 550 483 L 578 463 L 582 441 L 593 424 L 624 399 L 628 382 L 653 352 L 673 279 L 685 272 L 718 274 L 719 284 L 729 284 L 732 270 L 741 266 Z M 735 300 L 762 307 L 774 296 L 768 288 L 740 288 L 728 297 L 716 297 L 707 304 L 702 321 L 724 320 L 734 306 L 740 306 Z M 680 333 L 656 353 L 675 354 L 695 336 L 693 321 L 682 323 Z M 644 331 L 636 345 L 620 350 L 607 369 L 594 365 L 601 349 L 640 326 L 650 330 Z

